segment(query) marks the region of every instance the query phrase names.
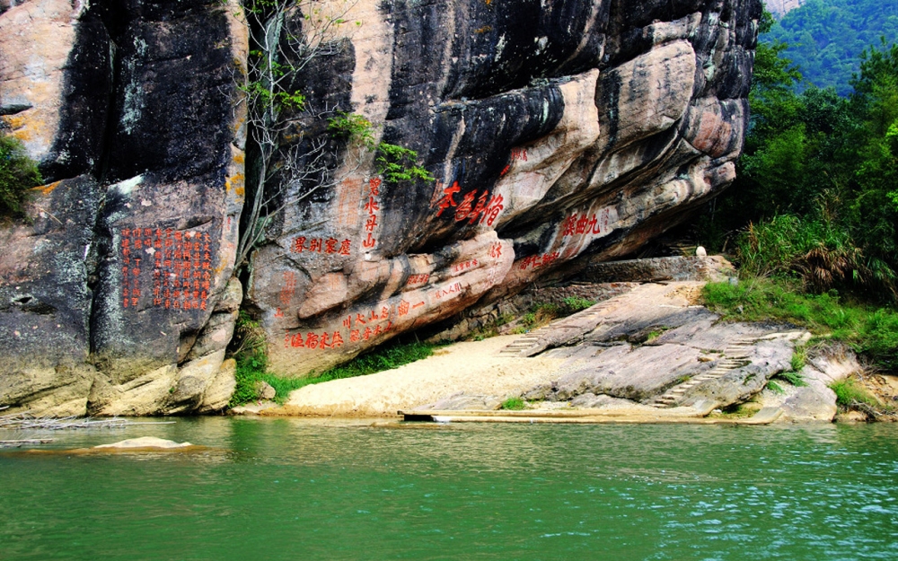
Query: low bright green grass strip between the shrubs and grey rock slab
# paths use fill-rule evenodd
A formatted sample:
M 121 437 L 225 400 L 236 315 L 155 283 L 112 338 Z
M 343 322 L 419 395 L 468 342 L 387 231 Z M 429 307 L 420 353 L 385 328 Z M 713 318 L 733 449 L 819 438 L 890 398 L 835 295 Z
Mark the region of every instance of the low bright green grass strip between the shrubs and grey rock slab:
M 830 337 L 866 355 L 871 362 L 898 371 L 898 311 L 858 302 L 842 302 L 838 293 L 805 294 L 795 281 L 747 278 L 738 285 L 709 283 L 702 295 L 726 320 L 788 321 L 819 337 Z

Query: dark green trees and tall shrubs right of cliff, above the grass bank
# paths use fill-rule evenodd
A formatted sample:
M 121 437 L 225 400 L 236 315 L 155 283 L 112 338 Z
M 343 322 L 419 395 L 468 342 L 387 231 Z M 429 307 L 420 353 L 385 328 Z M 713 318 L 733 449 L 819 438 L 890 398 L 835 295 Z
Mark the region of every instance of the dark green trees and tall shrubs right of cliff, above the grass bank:
M 894 300 L 898 45 L 878 39 L 856 58 L 847 97 L 814 86 L 796 92 L 802 75 L 784 46 L 759 44 L 738 177 L 701 215 L 699 230 L 703 242 L 730 244 L 758 273 Z

